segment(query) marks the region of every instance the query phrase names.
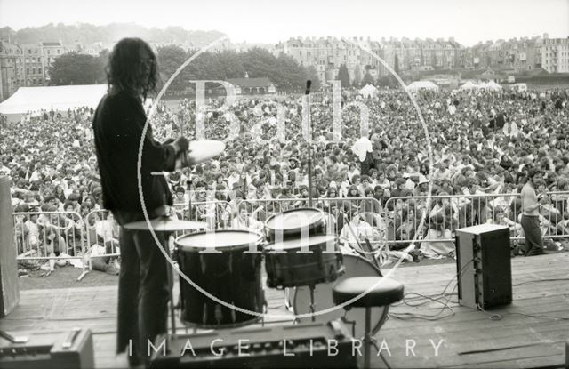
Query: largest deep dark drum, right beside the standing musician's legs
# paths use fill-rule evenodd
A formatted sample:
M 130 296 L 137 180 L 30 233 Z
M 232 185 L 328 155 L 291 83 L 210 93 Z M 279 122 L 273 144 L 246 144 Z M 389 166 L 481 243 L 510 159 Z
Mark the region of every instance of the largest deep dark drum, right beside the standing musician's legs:
M 185 235 L 176 239 L 180 270 L 207 293 L 220 301 L 263 313 L 260 251 L 262 237 L 247 230 L 219 230 Z M 212 253 L 215 247 L 217 253 Z M 205 252 L 205 253 L 204 253 Z M 258 320 L 213 301 L 180 276 L 181 320 L 201 328 L 232 328 Z

